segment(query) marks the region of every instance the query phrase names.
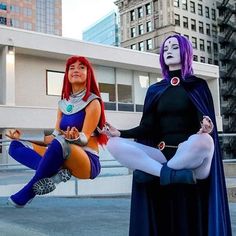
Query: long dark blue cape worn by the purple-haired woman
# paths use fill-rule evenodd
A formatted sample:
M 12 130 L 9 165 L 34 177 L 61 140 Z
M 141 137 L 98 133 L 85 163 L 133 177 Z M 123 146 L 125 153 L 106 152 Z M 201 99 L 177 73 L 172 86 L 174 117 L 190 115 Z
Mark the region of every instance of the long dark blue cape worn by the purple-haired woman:
M 196 186 L 171 185 L 167 188 L 160 186 L 159 178 L 141 184 L 136 182 L 134 177 L 131 196 L 130 236 L 232 235 L 212 96 L 206 81 L 195 76 L 182 81 L 182 85 L 198 111 L 208 115 L 215 125 L 212 134 L 215 152 L 210 175 L 207 180 L 199 181 Z M 162 80 L 149 87 L 140 124 L 169 86 L 171 85 L 168 80 Z M 137 141 L 150 146 L 156 145 L 151 139 Z M 176 199 L 173 200 L 173 196 Z M 175 200 L 177 202 L 173 202 Z M 177 215 L 176 213 L 166 213 L 171 212 L 172 205 L 175 208 L 180 208 L 177 209 Z M 197 212 L 198 210 L 200 213 Z M 191 219 L 192 215 L 198 216 Z M 195 222 L 196 219 L 197 222 Z M 174 225 L 174 232 L 169 229 L 170 225 Z M 165 228 L 167 234 L 163 232 Z

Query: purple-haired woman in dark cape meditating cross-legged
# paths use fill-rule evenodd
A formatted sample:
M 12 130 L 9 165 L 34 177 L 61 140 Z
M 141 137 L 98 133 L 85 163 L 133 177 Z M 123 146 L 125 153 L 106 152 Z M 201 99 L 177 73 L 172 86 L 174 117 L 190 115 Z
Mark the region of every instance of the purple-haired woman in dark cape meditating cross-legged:
M 165 39 L 164 79 L 149 87 L 140 125 L 103 130 L 111 154 L 134 170 L 130 236 L 232 234 L 212 96 L 192 57 L 187 38 Z

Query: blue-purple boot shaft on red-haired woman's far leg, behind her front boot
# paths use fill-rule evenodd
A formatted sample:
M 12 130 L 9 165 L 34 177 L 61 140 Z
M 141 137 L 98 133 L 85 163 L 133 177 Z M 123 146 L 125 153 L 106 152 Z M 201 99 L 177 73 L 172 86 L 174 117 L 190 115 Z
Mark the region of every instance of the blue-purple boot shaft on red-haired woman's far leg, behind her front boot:
M 27 143 L 18 140 L 11 142 L 8 152 L 17 162 L 33 170 L 37 170 L 42 159 Z

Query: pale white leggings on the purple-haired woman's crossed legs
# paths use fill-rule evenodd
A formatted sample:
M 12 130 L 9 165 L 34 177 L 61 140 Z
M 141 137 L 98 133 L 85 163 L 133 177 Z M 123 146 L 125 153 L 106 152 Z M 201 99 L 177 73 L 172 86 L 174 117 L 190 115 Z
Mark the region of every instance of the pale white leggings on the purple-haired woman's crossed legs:
M 167 161 L 159 149 L 120 137 L 110 138 L 107 149 L 123 166 L 155 176 L 160 176 L 162 164 Z M 210 173 L 213 154 L 212 137 L 207 133 L 194 134 L 179 145 L 167 165 L 175 170 L 191 169 L 197 179 L 205 179 Z

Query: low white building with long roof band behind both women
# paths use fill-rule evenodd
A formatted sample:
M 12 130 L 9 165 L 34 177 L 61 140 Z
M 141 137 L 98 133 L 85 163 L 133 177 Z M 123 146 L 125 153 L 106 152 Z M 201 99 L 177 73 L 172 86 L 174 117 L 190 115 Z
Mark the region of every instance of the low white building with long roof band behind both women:
M 0 26 L 0 134 L 53 129 L 65 62 L 83 55 L 94 66 L 107 121 L 119 129 L 135 127 L 150 84 L 161 78 L 159 55 Z M 10 40 L 9 40 L 10 39 Z M 14 46 L 10 45 L 14 43 Z M 119 55 L 119 56 L 117 56 Z M 212 91 L 218 129 L 221 114 L 218 66 L 194 62 L 195 74 Z M 0 164 L 14 163 L 3 146 Z

